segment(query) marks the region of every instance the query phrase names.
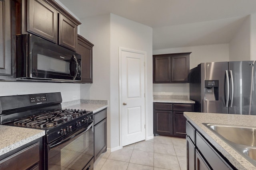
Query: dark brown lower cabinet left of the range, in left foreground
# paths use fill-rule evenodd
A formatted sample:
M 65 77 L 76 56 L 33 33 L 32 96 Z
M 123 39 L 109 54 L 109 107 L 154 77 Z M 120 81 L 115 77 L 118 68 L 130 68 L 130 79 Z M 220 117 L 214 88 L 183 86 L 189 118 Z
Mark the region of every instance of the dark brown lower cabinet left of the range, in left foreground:
M 0 169 L 44 170 L 42 139 L 36 140 L 36 143 L 30 143 L 29 146 L 8 152 L 4 158 L 1 156 Z

